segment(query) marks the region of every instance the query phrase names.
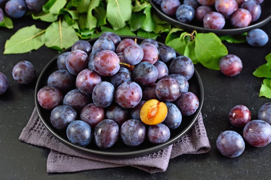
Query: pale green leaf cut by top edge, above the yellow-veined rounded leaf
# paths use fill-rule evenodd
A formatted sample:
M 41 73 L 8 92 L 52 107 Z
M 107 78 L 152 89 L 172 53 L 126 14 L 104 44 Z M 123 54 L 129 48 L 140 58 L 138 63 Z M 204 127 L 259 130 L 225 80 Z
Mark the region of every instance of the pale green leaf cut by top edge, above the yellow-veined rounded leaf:
M 42 6 L 42 10 L 46 13 L 59 14 L 59 11 L 64 8 L 67 0 L 49 0 Z

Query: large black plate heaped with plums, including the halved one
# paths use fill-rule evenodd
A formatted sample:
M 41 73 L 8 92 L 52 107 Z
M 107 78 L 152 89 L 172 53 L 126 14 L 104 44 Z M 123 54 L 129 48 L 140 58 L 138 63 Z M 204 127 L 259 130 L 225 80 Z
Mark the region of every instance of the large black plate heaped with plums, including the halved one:
M 192 61 L 170 46 L 105 32 L 47 64 L 35 104 L 44 126 L 66 146 L 131 158 L 186 134 L 202 108 L 203 86 Z

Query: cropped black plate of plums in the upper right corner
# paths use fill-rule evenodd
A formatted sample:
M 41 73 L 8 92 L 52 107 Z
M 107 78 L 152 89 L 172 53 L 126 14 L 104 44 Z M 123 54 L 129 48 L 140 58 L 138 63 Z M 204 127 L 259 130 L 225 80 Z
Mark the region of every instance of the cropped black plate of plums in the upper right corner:
M 189 32 L 242 34 L 271 20 L 268 0 L 149 0 L 158 16 Z

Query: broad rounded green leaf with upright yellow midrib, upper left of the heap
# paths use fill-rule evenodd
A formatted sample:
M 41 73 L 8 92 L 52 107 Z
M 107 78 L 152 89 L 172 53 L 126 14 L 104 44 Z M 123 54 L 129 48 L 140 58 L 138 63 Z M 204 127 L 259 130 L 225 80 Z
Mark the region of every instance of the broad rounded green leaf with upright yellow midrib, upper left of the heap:
M 75 30 L 65 21 L 53 22 L 45 32 L 45 45 L 56 50 L 69 48 L 79 38 Z

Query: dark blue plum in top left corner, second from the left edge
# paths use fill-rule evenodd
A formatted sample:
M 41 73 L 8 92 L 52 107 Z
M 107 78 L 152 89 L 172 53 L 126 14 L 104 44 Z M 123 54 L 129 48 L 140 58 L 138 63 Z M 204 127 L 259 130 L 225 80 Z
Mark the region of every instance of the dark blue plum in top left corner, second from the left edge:
M 10 0 L 5 6 L 6 13 L 12 18 L 20 18 L 26 12 L 24 0 Z

